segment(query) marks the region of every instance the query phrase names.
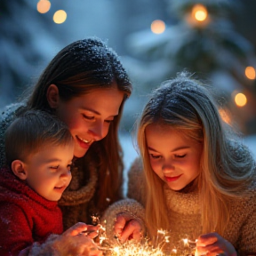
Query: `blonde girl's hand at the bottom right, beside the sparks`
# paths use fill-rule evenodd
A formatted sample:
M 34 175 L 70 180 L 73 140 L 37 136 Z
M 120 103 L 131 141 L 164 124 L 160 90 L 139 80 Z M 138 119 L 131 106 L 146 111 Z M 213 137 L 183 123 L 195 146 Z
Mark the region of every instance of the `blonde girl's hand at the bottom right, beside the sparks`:
M 234 246 L 216 232 L 199 236 L 196 242 L 196 252 L 198 256 L 237 255 Z

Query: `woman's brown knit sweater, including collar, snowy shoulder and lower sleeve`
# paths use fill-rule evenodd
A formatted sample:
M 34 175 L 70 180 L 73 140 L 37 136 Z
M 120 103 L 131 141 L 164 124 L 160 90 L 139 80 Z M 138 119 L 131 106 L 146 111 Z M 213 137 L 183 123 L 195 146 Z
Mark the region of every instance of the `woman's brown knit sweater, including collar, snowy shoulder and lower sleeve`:
M 20 116 L 26 111 L 25 105 L 25 102 L 13 103 L 6 106 L 0 112 L 0 168 L 5 165 L 4 132 L 17 116 Z M 86 166 L 86 168 L 84 166 Z M 91 216 L 95 212 L 101 213 L 99 209 L 95 207 L 93 201 L 98 183 L 97 168 L 91 163 L 88 164 L 83 163 L 83 161 L 76 161 L 71 168 L 71 173 L 72 180 L 58 202 L 62 212 L 64 231 L 77 222 L 90 224 L 92 222 Z M 25 252 L 24 255 L 66 255 L 65 244 L 63 244 L 64 247 L 59 246 L 60 248 L 56 248 L 55 246 L 55 241 L 56 239 L 58 240 L 58 238 L 59 235 L 52 234 L 43 244 L 34 243 L 32 248 L 29 249 L 29 252 Z M 4 253 L 3 255 L 1 254 L 1 256 L 5 256 Z

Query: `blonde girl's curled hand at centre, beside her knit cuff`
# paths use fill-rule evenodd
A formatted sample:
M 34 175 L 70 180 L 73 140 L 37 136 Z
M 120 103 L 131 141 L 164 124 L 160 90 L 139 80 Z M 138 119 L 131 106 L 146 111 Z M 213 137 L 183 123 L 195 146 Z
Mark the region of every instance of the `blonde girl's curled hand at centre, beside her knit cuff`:
M 116 216 L 114 232 L 121 243 L 132 239 L 140 241 L 141 230 L 139 220 L 134 219 L 129 214 L 120 213 Z

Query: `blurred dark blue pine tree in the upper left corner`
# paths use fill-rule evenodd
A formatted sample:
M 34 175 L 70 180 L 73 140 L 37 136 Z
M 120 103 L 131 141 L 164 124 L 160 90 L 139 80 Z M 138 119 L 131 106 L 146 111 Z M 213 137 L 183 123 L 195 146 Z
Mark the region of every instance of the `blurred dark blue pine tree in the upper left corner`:
M 33 3 L 32 3 L 33 2 Z M 0 1 L 0 108 L 17 98 L 45 57 L 49 20 L 35 1 Z M 45 41 L 42 40 L 45 38 Z M 48 42 L 51 36 L 48 37 Z M 47 42 L 47 41 L 46 41 Z M 49 44 L 49 43 L 48 43 Z

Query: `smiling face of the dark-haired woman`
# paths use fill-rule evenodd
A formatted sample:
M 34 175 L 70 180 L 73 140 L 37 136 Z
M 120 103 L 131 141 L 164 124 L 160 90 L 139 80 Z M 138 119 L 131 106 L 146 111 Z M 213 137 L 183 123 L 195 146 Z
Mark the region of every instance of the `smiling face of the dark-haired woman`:
M 123 99 L 124 92 L 117 86 L 96 89 L 68 101 L 59 97 L 56 113 L 68 124 L 75 140 L 74 156 L 84 156 L 94 141 L 106 137 Z

